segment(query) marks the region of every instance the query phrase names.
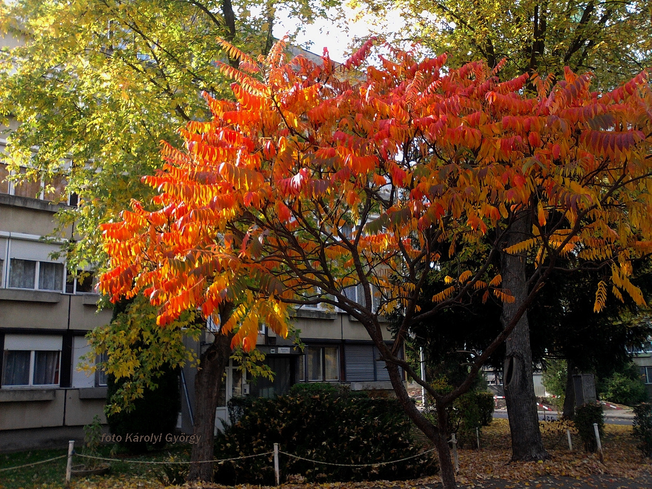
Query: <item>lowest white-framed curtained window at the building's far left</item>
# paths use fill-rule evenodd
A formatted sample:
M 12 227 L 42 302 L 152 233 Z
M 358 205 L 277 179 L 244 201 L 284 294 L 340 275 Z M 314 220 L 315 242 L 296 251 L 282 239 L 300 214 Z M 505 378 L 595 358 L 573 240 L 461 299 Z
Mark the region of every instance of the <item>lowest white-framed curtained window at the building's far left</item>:
M 60 368 L 61 336 L 5 336 L 3 387 L 59 385 Z

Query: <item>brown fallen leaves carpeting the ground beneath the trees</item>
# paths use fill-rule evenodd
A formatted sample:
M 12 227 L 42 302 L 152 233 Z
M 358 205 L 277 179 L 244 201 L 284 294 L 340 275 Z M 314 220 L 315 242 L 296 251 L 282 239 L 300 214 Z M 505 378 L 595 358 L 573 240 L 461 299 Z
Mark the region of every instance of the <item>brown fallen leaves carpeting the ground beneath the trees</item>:
M 557 487 L 556 481 L 566 481 L 559 487 L 595 487 L 594 479 L 610 482 L 609 487 L 621 487 L 622 479 L 630 481 L 652 481 L 652 460 L 644 458 L 632 435 L 632 426 L 605 425 L 602 440 L 604 464 L 597 454 L 584 451 L 579 437 L 572 436 L 573 451 L 567 444 L 566 425 L 561 422 L 542 423 L 544 446 L 550 454 L 548 460 L 539 462 L 511 462 L 511 442 L 509 423 L 505 419 L 494 419 L 490 426 L 483 428 L 480 451 L 460 449 L 460 472 L 456 480 L 460 486 L 468 488 L 513 487 L 550 488 Z M 436 456 L 436 454 L 434 454 Z M 93 481 L 73 481 L 70 489 L 162 489 L 165 487 L 223 489 L 216 483 L 186 483 L 183 486 L 166 486 L 158 481 L 152 471 L 151 477 L 125 478 L 119 475 L 104 477 Z M 301 480 L 300 476 L 293 480 Z M 572 480 L 576 481 L 572 483 Z M 570 481 L 570 482 L 569 482 Z M 627 482 L 627 481 L 625 481 Z M 497 485 L 499 483 L 499 485 Z M 552 484 L 552 485 L 551 485 Z M 568 485 L 567 485 L 568 484 Z M 327 482 L 327 483 L 285 483 L 282 489 L 411 489 L 441 486 L 438 476 L 413 481 L 373 481 L 373 482 Z M 632 487 L 622 484 L 623 487 Z M 60 484 L 46 484 L 42 489 L 54 489 Z M 241 484 L 237 489 L 263 489 L 269 486 Z M 600 486 L 606 487 L 606 486 Z M 640 486 L 644 487 L 644 486 Z

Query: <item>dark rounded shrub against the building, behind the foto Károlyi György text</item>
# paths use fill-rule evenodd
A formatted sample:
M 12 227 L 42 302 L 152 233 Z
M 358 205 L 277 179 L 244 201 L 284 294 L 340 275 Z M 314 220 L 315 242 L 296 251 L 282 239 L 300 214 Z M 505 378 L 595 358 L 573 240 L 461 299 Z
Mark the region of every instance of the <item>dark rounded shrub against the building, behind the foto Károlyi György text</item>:
M 116 382 L 113 376 L 108 377 L 109 400 L 123 382 L 124 380 Z M 133 441 L 134 436 L 162 434 L 160 441 L 149 443 L 152 447 L 158 448 L 165 445 L 166 434 L 174 432 L 177 426 L 177 417 L 181 409 L 178 374 L 175 370 L 167 368 L 156 379 L 156 383 L 158 383 L 156 389 L 145 389 L 143 397 L 134 400 L 130 411 L 123 410 L 106 417 L 111 433 L 121 437 L 121 441 L 117 443 L 130 453 L 147 451 L 148 443 L 143 440 Z

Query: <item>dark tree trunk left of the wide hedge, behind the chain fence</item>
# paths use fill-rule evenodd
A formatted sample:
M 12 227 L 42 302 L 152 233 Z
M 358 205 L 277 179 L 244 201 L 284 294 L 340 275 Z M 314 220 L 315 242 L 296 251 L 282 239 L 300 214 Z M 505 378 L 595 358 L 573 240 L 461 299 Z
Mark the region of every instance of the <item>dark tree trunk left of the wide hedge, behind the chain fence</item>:
M 216 334 L 215 341 L 200 357 L 200 368 L 195 377 L 195 424 L 193 434 L 198 440 L 192 445 L 191 462 L 213 460 L 215 445 L 215 411 L 222 385 L 224 369 L 231 357 L 233 334 Z M 190 464 L 188 481 L 213 480 L 213 462 Z

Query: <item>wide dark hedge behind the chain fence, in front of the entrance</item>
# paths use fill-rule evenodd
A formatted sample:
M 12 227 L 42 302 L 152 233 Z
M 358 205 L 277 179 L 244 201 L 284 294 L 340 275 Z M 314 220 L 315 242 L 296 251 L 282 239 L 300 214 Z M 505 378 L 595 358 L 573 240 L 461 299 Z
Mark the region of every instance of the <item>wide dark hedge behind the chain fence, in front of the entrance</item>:
M 235 423 L 218 434 L 218 460 L 280 450 L 310 460 L 336 464 L 373 464 L 422 451 L 413 447 L 411 424 L 395 399 L 369 398 L 329 387 L 296 388 L 275 399 L 231 400 Z M 310 392 L 308 394 L 308 392 Z M 405 462 L 376 467 L 340 467 L 280 456 L 281 477 L 301 474 L 307 481 L 415 479 L 437 471 L 434 452 Z M 216 464 L 220 484 L 273 484 L 271 455 Z

